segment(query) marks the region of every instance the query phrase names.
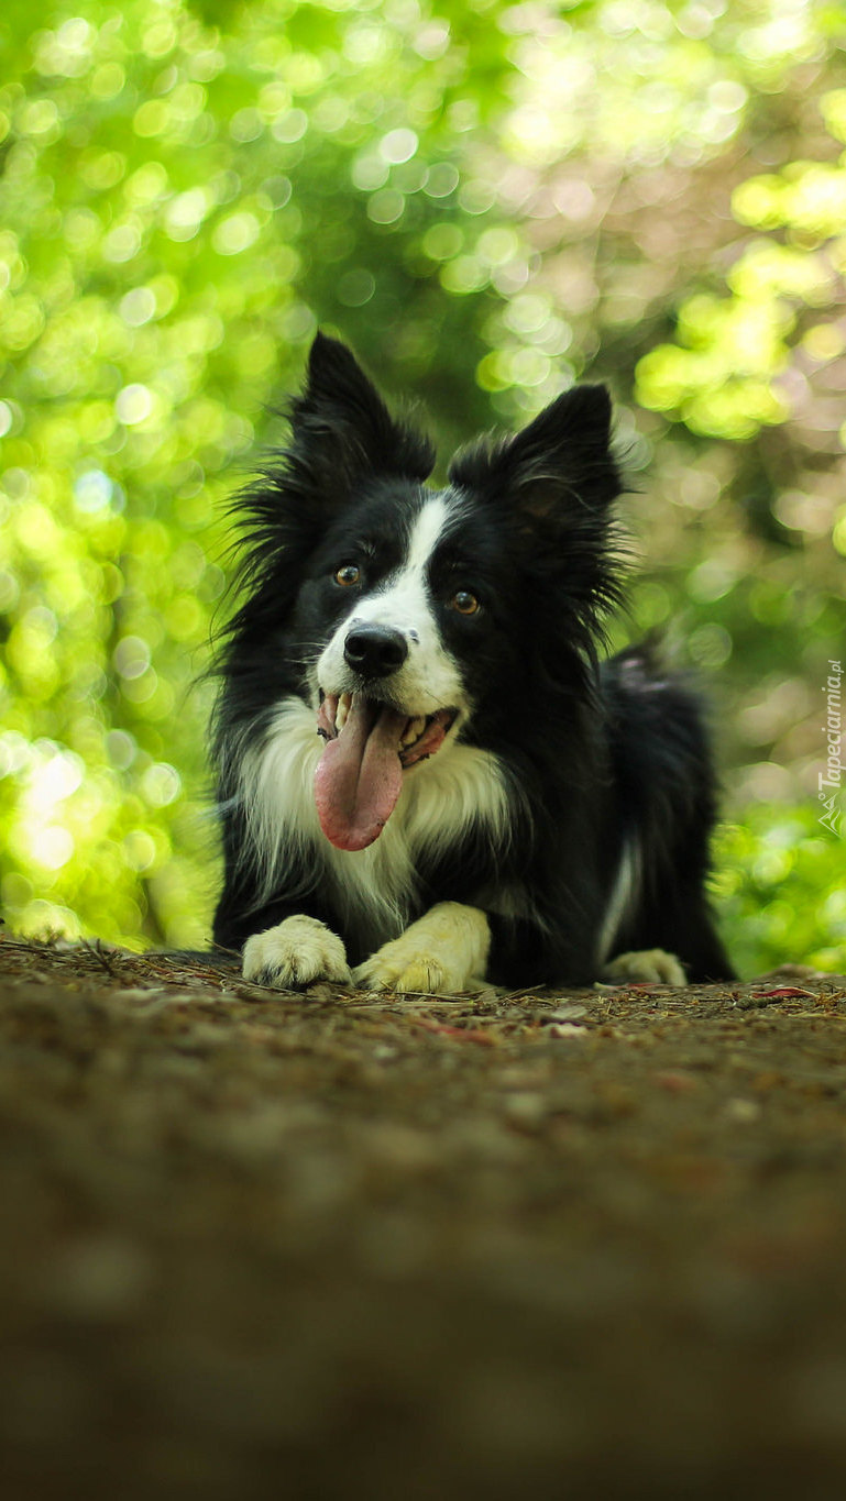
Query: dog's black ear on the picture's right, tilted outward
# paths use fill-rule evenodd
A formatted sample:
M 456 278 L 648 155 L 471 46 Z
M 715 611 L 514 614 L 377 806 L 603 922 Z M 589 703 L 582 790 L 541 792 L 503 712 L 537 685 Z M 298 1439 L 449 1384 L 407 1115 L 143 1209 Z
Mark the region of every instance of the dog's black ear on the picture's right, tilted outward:
M 514 437 L 482 438 L 464 449 L 449 465 L 449 479 L 517 506 L 529 522 L 554 524 L 574 509 L 600 513 L 622 491 L 610 426 L 606 387 L 574 386 Z

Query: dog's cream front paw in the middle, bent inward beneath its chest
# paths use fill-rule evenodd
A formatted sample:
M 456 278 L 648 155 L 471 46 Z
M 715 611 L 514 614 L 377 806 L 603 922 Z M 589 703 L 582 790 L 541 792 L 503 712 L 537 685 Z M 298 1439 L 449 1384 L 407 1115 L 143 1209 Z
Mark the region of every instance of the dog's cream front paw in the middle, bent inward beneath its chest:
M 461 902 L 439 902 L 400 938 L 359 964 L 355 980 L 367 991 L 455 995 L 481 988 L 488 949 L 484 913 Z

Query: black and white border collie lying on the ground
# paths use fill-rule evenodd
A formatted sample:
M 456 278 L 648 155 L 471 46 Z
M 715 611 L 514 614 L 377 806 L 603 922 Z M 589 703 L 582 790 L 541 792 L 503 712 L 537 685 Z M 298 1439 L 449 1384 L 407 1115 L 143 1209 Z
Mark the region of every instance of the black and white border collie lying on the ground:
M 242 497 L 215 941 L 279 988 L 729 977 L 696 696 L 645 647 L 598 660 L 619 597 L 604 387 L 458 453 L 443 489 L 334 339 L 290 416 Z

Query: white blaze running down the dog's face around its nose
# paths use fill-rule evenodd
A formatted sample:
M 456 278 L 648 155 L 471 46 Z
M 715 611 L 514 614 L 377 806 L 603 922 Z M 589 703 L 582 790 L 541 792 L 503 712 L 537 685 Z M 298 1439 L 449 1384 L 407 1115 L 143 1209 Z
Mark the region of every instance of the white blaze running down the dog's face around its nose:
M 401 632 L 410 647 L 403 666 L 385 683 L 394 702 L 412 714 L 430 714 L 437 708 L 463 704 L 461 674 L 443 645 L 428 591 L 431 558 L 451 519 L 446 497 L 433 495 L 424 501 L 412 522 L 400 566 L 371 593 L 356 597 L 350 614 L 323 651 L 317 663 L 323 692 L 355 687 L 344 662 L 344 641 L 353 624 L 377 624 Z

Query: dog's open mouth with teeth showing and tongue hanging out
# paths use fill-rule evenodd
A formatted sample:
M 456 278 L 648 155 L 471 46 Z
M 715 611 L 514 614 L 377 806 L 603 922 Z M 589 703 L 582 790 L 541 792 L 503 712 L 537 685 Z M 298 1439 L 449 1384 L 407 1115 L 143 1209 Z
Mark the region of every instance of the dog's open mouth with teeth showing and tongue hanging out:
M 403 790 L 406 767 L 440 749 L 457 708 L 409 716 L 365 693 L 326 693 L 317 732 L 326 740 L 314 776 L 320 827 L 338 850 L 379 838 Z

